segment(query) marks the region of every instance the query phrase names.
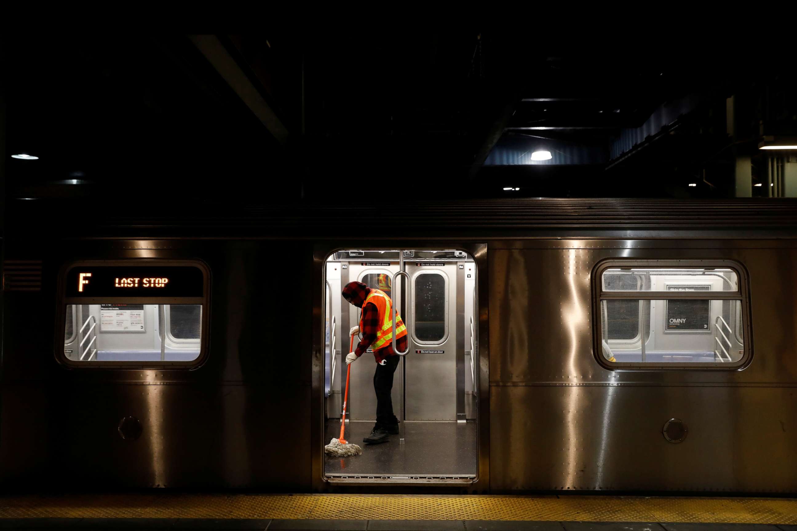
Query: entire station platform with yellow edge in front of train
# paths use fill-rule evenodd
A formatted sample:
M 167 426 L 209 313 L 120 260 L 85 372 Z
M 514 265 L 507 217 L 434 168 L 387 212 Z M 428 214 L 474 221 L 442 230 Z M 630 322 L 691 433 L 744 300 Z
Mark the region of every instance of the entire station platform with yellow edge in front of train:
M 0 529 L 797 531 L 797 499 L 347 494 L 0 498 Z

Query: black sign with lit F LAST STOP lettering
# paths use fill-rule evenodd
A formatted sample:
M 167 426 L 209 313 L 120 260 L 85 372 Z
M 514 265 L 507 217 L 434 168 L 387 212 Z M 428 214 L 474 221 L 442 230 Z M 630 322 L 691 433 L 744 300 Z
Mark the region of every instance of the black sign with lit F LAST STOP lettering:
M 191 266 L 76 266 L 66 279 L 67 297 L 202 297 L 202 270 Z

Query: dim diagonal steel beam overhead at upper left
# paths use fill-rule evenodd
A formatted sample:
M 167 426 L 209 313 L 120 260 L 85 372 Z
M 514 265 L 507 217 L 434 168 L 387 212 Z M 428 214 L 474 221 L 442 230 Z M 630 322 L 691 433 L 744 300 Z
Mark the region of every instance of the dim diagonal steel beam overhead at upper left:
M 277 142 L 285 145 L 288 142 L 288 128 L 273 111 L 255 84 L 230 55 L 222 41 L 215 35 L 190 35 L 191 42 L 200 53 L 213 65 L 216 72 L 224 78 L 230 88 L 249 107 L 257 119 L 273 135 Z

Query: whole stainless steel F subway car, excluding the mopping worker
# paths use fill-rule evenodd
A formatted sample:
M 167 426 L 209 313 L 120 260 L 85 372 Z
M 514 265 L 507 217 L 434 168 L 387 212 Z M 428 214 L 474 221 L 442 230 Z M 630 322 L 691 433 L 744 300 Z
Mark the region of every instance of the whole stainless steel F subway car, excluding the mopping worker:
M 33 203 L 10 216 L 51 219 Z M 2 486 L 795 494 L 795 223 L 517 199 L 9 225 Z M 375 360 L 351 365 L 341 459 L 353 280 L 408 341 L 387 443 L 361 442 Z

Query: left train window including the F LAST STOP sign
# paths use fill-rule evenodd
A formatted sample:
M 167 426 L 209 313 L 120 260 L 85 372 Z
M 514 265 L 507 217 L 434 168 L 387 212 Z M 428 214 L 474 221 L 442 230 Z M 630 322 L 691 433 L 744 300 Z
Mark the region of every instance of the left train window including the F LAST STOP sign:
M 65 344 L 59 358 L 80 367 L 201 363 L 208 271 L 189 264 L 73 264 L 61 283 Z

